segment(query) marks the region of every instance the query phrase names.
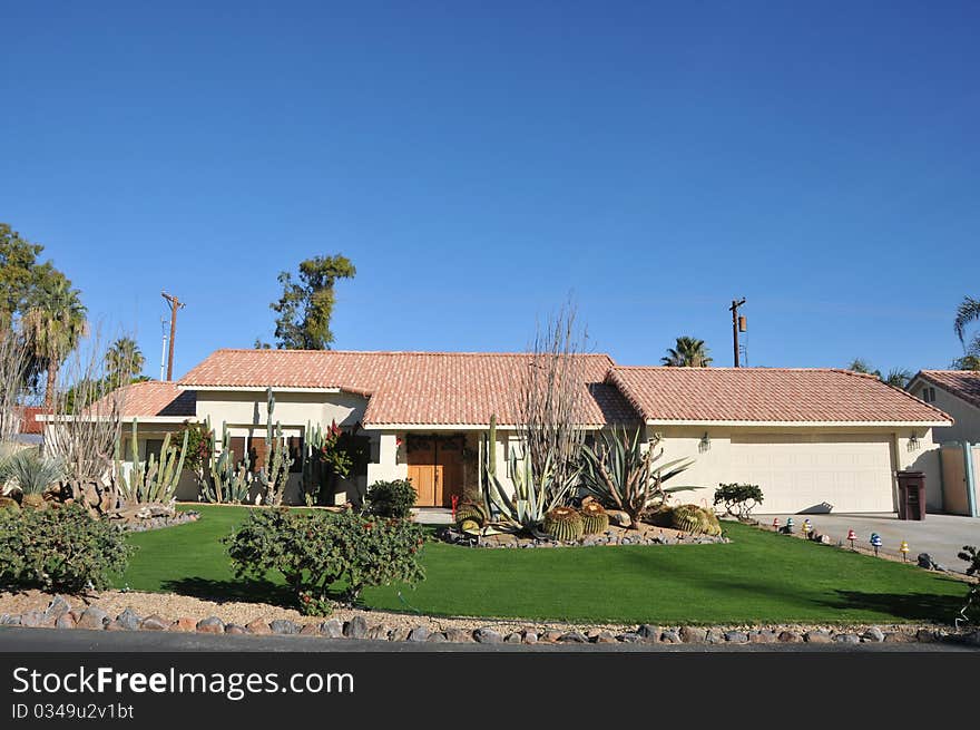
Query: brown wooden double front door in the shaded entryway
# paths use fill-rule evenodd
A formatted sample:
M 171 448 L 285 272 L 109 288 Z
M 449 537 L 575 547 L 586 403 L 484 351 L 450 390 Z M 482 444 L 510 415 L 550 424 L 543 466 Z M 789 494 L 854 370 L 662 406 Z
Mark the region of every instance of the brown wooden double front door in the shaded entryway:
M 463 490 L 463 437 L 409 436 L 405 452 L 409 479 L 419 507 L 450 507 Z

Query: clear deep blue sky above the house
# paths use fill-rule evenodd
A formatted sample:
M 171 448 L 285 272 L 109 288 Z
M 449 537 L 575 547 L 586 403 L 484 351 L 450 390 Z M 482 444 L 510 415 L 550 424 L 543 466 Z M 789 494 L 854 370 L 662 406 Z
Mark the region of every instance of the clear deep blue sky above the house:
M 139 6 L 139 7 L 137 7 Z M 595 347 L 945 367 L 980 295 L 976 2 L 21 2 L 0 221 L 178 374 L 342 282 L 340 349 Z

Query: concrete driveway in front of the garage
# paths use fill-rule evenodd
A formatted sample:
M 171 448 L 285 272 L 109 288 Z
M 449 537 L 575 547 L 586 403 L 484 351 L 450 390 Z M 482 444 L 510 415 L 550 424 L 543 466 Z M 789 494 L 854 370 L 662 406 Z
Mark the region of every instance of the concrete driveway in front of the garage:
M 817 532 L 830 535 L 836 543 L 845 541 L 847 531 L 857 534 L 854 544 L 859 547 L 871 547 L 871 533 L 878 533 L 882 539 L 882 552 L 901 555 L 899 546 L 902 541 L 909 543 L 909 559 L 914 562 L 919 553 L 929 553 L 932 559 L 943 567 L 963 573 L 967 563 L 957 557 L 963 545 L 980 546 L 980 518 L 960 517 L 958 515 L 929 514 L 923 520 L 899 519 L 894 513 L 886 514 L 830 514 L 830 515 L 755 515 L 764 525 L 770 525 L 773 517 L 780 518 L 780 525 L 786 524 L 786 517 L 793 517 L 796 532 L 800 532 L 804 519 L 810 519 Z

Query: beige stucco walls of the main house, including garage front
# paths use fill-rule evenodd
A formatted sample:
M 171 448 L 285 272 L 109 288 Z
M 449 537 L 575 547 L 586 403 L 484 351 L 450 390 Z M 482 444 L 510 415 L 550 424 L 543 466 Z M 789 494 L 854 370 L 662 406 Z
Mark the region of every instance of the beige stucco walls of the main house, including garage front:
M 305 437 L 307 425 L 329 427 L 332 421 L 355 427 L 362 420 L 367 398 L 336 390 L 275 392 L 274 420 L 285 436 Z M 938 403 L 940 407 L 945 407 Z M 265 435 L 266 393 L 254 390 L 198 390 L 196 420 L 209 419 L 219 447 L 222 426 L 232 436 Z M 163 438 L 180 428 L 180 419 L 140 422 L 140 459 L 146 458 L 146 440 Z M 454 427 L 430 428 L 445 432 Z M 942 508 L 939 452 L 931 428 L 895 425 L 672 425 L 646 426 L 647 435 L 660 434 L 663 460 L 693 457 L 694 464 L 667 486 L 692 485 L 697 489 L 676 495 L 678 502 L 710 506 L 714 491 L 722 483 L 758 484 L 765 495 L 757 509 L 765 513 L 800 512 L 893 512 L 896 506 L 894 473 L 900 469 L 922 470 L 927 476 L 928 508 Z M 362 430 L 370 437 L 370 461 L 366 474 L 341 483 L 334 496 L 336 504 L 359 502 L 367 485 L 379 480 L 408 477 L 405 458 L 406 434 L 427 432 L 423 427 L 391 426 Z M 460 427 L 467 446 L 484 461 L 486 429 Z M 913 438 L 914 437 L 914 438 Z M 401 446 L 399 446 L 401 444 Z M 520 444 L 514 431 L 498 429 L 492 446 L 497 473 L 504 488 L 512 490 L 508 461 Z M 126 451 L 128 454 L 128 451 Z M 473 476 L 473 475 L 471 475 Z M 468 478 L 476 484 L 476 478 Z M 256 485 L 251 495 L 258 493 Z M 185 474 L 178 498 L 198 499 L 193 475 Z M 302 504 L 302 474 L 290 475 L 285 490 L 287 504 Z

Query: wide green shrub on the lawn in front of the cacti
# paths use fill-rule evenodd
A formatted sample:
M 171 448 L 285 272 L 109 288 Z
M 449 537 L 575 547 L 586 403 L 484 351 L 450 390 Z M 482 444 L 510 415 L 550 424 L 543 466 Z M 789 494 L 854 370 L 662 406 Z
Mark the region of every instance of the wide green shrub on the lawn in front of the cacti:
M 254 510 L 225 541 L 238 578 L 280 573 L 296 595 L 300 611 L 322 615 L 330 592 L 343 582 L 343 595 L 391 583 L 414 584 L 425 575 L 419 563 L 422 528 L 411 522 L 294 509 Z

